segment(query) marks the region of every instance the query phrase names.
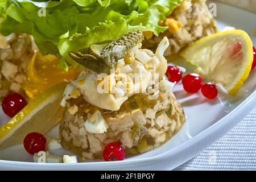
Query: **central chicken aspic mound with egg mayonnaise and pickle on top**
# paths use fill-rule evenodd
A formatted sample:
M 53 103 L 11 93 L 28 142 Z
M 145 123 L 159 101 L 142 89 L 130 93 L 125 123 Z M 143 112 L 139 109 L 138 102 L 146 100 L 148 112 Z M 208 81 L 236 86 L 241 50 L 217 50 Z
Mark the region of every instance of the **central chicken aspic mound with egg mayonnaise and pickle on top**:
M 131 32 L 110 43 L 118 46 L 106 46 L 110 50 L 107 56 L 102 56 L 101 48 L 94 51 L 95 46 L 89 48 L 90 55 L 72 55 L 75 60 L 75 56 L 94 59 L 112 71 L 106 74 L 108 70 L 88 61 L 88 67 L 65 89 L 60 136 L 67 150 L 86 159 L 102 159 L 104 147 L 117 142 L 126 155 L 140 154 L 164 144 L 183 126 L 183 108 L 171 91 L 175 83 L 165 76 L 167 60 L 163 54 L 169 41 L 164 38 L 153 53 L 141 49 L 141 35 Z

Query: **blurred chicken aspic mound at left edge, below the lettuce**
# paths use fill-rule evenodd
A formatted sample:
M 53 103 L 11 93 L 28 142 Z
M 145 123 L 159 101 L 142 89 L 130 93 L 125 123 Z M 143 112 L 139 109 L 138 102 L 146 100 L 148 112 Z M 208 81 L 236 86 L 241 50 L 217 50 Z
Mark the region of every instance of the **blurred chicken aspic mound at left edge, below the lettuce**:
M 32 42 L 27 34 L 13 33 L 6 37 L 0 34 L 0 100 L 9 92 L 23 92 L 27 66 L 36 49 Z

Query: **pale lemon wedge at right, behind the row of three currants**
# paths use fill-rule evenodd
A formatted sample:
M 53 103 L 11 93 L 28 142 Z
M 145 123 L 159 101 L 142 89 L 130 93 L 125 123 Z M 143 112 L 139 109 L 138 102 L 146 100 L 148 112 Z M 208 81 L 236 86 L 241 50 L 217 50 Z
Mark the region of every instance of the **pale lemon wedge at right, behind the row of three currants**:
M 195 65 L 195 72 L 205 80 L 221 84 L 235 96 L 249 76 L 253 43 L 245 31 L 225 31 L 197 40 L 180 55 Z

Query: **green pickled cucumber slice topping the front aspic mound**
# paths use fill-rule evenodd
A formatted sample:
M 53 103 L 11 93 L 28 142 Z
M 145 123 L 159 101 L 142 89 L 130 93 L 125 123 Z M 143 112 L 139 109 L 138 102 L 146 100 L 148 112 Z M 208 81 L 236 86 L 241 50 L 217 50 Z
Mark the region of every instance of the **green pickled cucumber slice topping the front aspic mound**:
M 77 63 L 96 73 L 110 74 L 117 68 L 117 62 L 144 39 L 142 32 L 129 32 L 114 42 L 101 45 L 92 45 L 87 53 L 84 49 L 79 52 L 69 52 L 69 56 Z

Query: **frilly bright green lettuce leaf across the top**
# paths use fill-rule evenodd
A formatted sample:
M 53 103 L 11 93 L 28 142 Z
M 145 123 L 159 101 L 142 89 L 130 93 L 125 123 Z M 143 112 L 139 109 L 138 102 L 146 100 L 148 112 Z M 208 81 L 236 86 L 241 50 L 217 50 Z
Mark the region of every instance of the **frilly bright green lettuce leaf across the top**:
M 183 0 L 1 1 L 7 1 L 0 4 L 0 15 L 6 15 L 1 33 L 31 34 L 40 51 L 60 57 L 58 68 L 67 70 L 68 64 L 79 66 L 69 51 L 111 42 L 130 31 L 165 31 L 159 20 Z

